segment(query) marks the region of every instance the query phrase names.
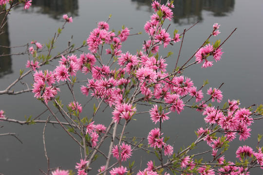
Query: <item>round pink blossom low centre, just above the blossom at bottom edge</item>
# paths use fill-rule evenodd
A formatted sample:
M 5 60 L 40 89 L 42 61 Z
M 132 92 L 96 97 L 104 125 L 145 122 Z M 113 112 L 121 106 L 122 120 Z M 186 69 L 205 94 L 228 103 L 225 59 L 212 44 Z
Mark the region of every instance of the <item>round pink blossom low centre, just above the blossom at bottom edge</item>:
M 113 157 L 116 157 L 118 160 L 121 157 L 121 161 L 126 161 L 127 158 L 130 158 L 132 154 L 131 145 L 125 144 L 124 142 L 122 142 L 120 146 L 114 145 L 112 153 L 113 153 Z

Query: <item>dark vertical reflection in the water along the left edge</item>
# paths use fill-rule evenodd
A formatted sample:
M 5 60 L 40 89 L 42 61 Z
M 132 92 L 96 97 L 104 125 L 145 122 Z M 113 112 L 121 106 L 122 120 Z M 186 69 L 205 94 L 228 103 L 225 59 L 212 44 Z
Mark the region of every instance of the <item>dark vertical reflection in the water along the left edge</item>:
M 2 9 L 0 9 L 2 12 Z M 0 15 L 0 22 L 3 20 L 3 15 Z M 3 47 L 1 47 L 3 46 Z M 0 55 L 10 54 L 10 40 L 8 35 L 8 22 L 5 23 L 0 33 Z M 12 73 L 12 60 L 11 56 L 1 56 L 0 57 L 0 78 L 5 75 Z

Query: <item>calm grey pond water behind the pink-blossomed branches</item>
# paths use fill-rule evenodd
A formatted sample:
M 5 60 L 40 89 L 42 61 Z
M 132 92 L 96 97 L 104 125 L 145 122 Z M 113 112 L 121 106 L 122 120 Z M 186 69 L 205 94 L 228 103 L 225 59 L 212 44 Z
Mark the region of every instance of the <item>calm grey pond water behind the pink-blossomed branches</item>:
M 199 23 L 190 29 L 185 35 L 179 65 L 200 47 L 204 39 L 210 35 L 212 25 L 217 22 L 221 34 L 213 37 L 225 40 L 230 33 L 237 28 L 236 32 L 223 45 L 222 60 L 214 63 L 212 68 L 201 69 L 200 65 L 195 65 L 185 70 L 185 75 L 190 77 L 195 86 L 202 86 L 204 80 L 209 81 L 208 87 L 219 87 L 225 83 L 223 91 L 223 102 L 228 99 L 239 99 L 241 106 L 248 107 L 253 104 L 263 103 L 263 56 L 262 56 L 262 28 L 263 28 L 263 1 L 262 0 L 174 0 L 174 18 L 169 26 L 170 33 L 174 29 L 183 32 L 196 21 Z M 110 29 L 118 31 L 122 25 L 132 28 L 131 34 L 144 33 L 144 24 L 150 19 L 153 13 L 150 7 L 150 0 L 33 0 L 33 5 L 27 11 L 22 7 L 11 12 L 7 23 L 7 32 L 0 35 L 0 45 L 19 46 L 37 40 L 40 43 L 48 42 L 63 24 L 62 15 L 68 14 L 73 17 L 73 23 L 66 24 L 62 35 L 56 43 L 56 51 L 61 51 L 67 47 L 68 40 L 73 35 L 72 42 L 76 46 L 81 45 L 87 39 L 90 32 L 96 27 L 96 22 L 106 21 L 110 14 Z M 123 51 L 130 51 L 135 54 L 140 50 L 143 41 L 148 39 L 148 35 L 131 36 L 123 44 Z M 172 51 L 174 56 L 168 59 L 168 70 L 174 68 L 180 45 L 169 46 L 168 51 Z M 24 52 L 25 48 L 12 48 L 0 50 L 1 53 Z M 83 49 L 87 52 L 87 49 Z M 56 54 L 56 53 L 54 53 Z M 161 54 L 166 52 L 161 51 Z M 27 55 L 14 55 L 0 58 L 0 90 L 5 89 L 11 82 L 19 76 L 20 69 L 26 69 Z M 55 67 L 56 63 L 52 63 Z M 85 76 L 80 77 L 85 79 Z M 23 81 L 31 82 L 32 77 L 28 76 Z M 15 90 L 23 87 L 18 85 Z M 76 85 L 75 90 L 80 87 Z M 207 87 L 207 88 L 208 88 Z M 205 92 L 205 91 L 204 91 Z M 79 95 L 81 104 L 85 104 L 87 99 Z M 71 101 L 64 97 L 65 101 Z M 67 104 L 67 103 L 65 103 Z M 24 93 L 16 96 L 1 95 L 0 109 L 5 111 L 9 118 L 24 120 L 24 116 L 32 115 L 33 118 L 45 110 L 32 93 Z M 85 111 L 90 115 L 93 112 L 93 105 L 86 106 Z M 108 109 L 107 109 L 108 110 Z M 98 121 L 107 123 L 111 120 L 110 109 L 106 114 L 99 114 Z M 145 109 L 146 110 L 146 109 Z M 46 114 L 46 116 L 48 113 Z M 46 117 L 45 116 L 45 117 Z M 45 118 L 43 117 L 43 119 Z M 172 114 L 169 123 L 164 123 L 164 133 L 169 135 L 173 132 L 172 140 L 176 139 L 175 152 L 183 145 L 191 143 L 190 140 L 196 138 L 194 131 L 205 122 L 201 114 L 193 110 L 185 110 L 181 115 Z M 132 130 L 131 135 L 147 137 L 151 128 L 156 127 L 150 123 L 149 115 L 137 117 L 138 123 L 131 124 L 127 130 Z M 150 123 L 145 127 L 144 123 Z M 0 133 L 12 132 L 19 135 L 18 140 L 11 136 L 0 137 L 0 174 L 3 175 L 41 175 L 39 169 L 46 170 L 47 163 L 44 155 L 42 141 L 42 124 L 21 126 L 16 123 L 0 123 Z M 263 134 L 263 122 L 253 123 L 251 134 L 257 136 Z M 136 129 L 133 129 L 136 128 Z M 187 128 L 187 129 L 186 129 Z M 146 134 L 145 136 L 142 136 Z M 177 137 L 178 136 L 178 137 Z M 67 136 L 58 126 L 49 125 L 46 132 L 47 153 L 51 159 L 51 167 L 62 166 L 62 169 L 74 170 L 75 162 L 80 159 L 79 148 L 69 136 Z M 246 141 L 235 140 L 232 142 L 226 158 L 235 157 L 236 149 L 239 145 L 254 146 L 257 144 L 257 137 L 251 137 Z M 107 146 L 105 147 L 107 148 Z M 142 157 L 144 163 L 147 158 Z M 141 159 L 140 154 L 133 155 L 132 160 Z M 235 160 L 235 159 L 234 159 Z M 98 167 L 94 167 L 91 174 L 96 174 Z M 251 174 L 262 174 L 261 169 L 255 169 Z

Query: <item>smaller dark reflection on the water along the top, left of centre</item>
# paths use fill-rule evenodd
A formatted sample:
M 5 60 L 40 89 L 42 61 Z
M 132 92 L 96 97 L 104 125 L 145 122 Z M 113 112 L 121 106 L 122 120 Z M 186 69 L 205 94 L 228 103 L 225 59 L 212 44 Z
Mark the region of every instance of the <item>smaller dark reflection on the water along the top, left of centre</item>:
M 37 13 L 61 19 L 61 15 L 78 16 L 78 0 L 33 0 L 32 7 L 40 7 Z

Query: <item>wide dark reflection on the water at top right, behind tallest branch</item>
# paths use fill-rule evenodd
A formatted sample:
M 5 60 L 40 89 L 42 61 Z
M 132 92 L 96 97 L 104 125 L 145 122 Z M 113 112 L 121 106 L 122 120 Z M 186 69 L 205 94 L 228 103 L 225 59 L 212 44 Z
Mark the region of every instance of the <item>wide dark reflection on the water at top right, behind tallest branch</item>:
M 149 6 L 151 10 L 150 0 L 131 0 L 137 2 L 137 10 L 141 6 Z M 161 0 L 166 3 L 167 0 Z M 234 10 L 235 0 L 174 0 L 173 22 L 179 25 L 194 24 L 196 21 L 202 22 L 202 11 L 212 12 L 214 17 L 227 16 Z

